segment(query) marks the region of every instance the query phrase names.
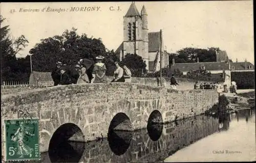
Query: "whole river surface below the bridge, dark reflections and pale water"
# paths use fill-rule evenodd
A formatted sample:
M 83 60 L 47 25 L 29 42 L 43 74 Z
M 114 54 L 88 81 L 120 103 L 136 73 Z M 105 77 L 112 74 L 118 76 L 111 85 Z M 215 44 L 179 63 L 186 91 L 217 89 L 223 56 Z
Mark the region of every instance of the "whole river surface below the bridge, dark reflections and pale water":
M 41 153 L 41 162 L 252 161 L 255 143 L 255 110 L 247 109 L 114 131 L 88 143 L 62 142 Z

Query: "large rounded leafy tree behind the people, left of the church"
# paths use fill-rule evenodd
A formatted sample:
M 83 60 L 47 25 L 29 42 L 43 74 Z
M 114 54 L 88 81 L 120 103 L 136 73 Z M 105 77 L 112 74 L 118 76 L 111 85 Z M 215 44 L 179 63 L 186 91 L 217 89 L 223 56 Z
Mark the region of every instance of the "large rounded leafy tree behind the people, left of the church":
M 33 69 L 35 71 L 52 71 L 57 61 L 75 64 L 80 58 L 95 60 L 98 55 L 106 56 L 105 46 L 101 38 L 89 38 L 86 34 L 79 36 L 77 29 L 64 31 L 61 36 L 41 39 L 33 49 Z

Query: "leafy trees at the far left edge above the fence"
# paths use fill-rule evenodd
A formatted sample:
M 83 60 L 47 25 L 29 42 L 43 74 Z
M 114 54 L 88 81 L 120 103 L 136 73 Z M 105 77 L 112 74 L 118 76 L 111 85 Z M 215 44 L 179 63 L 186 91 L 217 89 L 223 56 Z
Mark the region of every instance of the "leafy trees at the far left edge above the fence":
M 11 38 L 9 26 L 3 26 L 5 18 L 0 16 L 1 22 L 1 80 L 22 81 L 29 79 L 30 62 L 28 58 L 16 58 L 29 43 L 24 35 L 17 39 Z

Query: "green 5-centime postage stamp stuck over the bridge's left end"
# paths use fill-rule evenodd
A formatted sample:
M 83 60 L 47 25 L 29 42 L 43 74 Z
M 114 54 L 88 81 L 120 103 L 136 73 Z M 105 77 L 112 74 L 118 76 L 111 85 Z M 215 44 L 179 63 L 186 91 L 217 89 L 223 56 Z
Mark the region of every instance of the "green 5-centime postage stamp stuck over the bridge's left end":
M 39 160 L 38 119 L 5 120 L 6 160 Z

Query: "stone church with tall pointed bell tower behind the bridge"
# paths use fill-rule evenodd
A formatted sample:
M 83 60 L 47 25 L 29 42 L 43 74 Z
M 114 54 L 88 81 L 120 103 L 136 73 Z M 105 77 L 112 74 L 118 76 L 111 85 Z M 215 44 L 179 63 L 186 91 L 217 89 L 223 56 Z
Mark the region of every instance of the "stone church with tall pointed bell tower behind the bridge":
M 137 54 L 146 63 L 148 72 L 160 71 L 160 50 L 162 51 L 162 68 L 169 64 L 168 54 L 163 51 L 162 38 L 160 30 L 159 32 L 148 32 L 145 6 L 143 5 L 139 13 L 135 2 L 132 2 L 123 17 L 123 42 L 115 54 L 120 61 L 126 54 Z

